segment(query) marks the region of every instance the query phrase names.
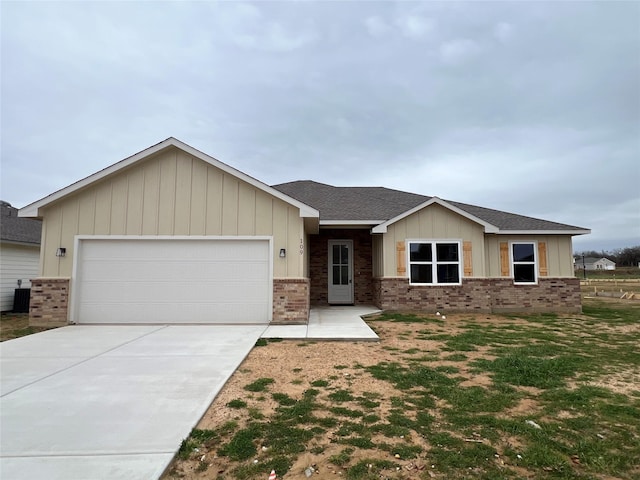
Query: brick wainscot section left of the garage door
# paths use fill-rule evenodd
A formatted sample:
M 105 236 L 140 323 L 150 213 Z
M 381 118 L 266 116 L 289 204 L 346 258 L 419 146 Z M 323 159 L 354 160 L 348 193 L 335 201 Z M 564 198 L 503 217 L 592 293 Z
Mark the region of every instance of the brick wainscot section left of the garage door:
M 61 327 L 66 325 L 68 310 L 68 278 L 35 278 L 31 280 L 30 326 Z

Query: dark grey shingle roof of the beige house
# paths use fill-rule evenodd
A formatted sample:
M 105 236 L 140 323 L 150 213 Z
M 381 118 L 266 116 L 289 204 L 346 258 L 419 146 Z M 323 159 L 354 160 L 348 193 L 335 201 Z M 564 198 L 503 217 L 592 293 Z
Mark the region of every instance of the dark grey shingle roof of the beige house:
M 334 187 L 311 180 L 273 185 L 273 188 L 320 211 L 320 220 L 381 223 L 432 197 L 384 187 Z M 445 200 L 502 231 L 584 231 L 585 228 L 526 217 L 490 208 Z M 375 222 L 374 222 L 375 221 Z

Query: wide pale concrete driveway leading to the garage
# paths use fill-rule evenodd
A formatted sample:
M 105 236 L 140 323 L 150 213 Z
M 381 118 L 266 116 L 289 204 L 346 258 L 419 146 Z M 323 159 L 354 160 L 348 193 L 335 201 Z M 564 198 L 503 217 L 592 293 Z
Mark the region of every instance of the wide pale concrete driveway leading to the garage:
M 0 478 L 159 477 L 264 332 L 68 326 L 0 344 Z

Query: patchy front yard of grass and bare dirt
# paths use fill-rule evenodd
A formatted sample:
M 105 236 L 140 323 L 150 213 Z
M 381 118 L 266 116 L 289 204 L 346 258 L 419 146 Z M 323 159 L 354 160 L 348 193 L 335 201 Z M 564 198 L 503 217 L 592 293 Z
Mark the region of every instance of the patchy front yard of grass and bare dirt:
M 640 304 L 369 324 L 256 346 L 165 478 L 640 478 Z

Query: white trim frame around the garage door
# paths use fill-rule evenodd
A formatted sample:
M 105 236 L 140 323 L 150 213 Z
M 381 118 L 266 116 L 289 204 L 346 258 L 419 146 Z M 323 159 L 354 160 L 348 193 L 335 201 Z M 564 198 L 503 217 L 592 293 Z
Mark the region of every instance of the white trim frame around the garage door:
M 267 241 L 268 242 L 268 322 L 273 318 L 273 237 L 266 235 L 76 235 L 73 249 L 73 268 L 71 273 L 71 289 L 69 305 L 69 323 L 78 323 L 78 309 L 80 298 L 77 288 L 74 288 L 79 281 L 79 258 L 82 249 L 82 242 L 91 240 L 114 240 L 114 241 L 194 241 L 194 242 L 215 242 L 215 241 Z

